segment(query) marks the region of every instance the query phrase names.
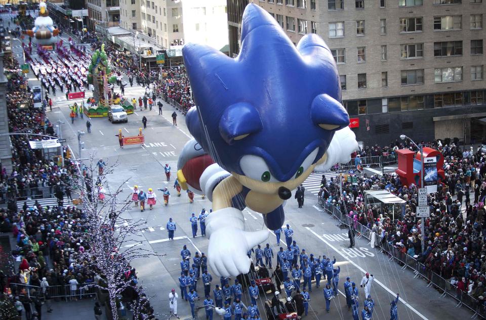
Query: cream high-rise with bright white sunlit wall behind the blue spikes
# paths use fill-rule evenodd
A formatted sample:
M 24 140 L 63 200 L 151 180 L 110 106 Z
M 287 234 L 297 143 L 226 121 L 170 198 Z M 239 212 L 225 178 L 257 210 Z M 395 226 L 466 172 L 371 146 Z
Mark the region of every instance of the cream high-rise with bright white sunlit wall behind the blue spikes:
M 226 0 L 120 0 L 120 10 L 121 27 L 143 32 L 164 48 L 228 44 Z

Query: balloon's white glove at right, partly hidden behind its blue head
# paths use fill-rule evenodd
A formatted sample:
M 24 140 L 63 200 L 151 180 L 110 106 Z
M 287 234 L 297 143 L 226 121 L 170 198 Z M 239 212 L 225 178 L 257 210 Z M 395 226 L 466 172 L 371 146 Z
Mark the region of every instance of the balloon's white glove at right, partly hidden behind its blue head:
M 315 167 L 317 171 L 326 171 L 336 163 L 347 163 L 351 160 L 351 153 L 358 150 L 356 135 L 345 127 L 334 133 L 333 140 L 326 151 L 326 161 Z

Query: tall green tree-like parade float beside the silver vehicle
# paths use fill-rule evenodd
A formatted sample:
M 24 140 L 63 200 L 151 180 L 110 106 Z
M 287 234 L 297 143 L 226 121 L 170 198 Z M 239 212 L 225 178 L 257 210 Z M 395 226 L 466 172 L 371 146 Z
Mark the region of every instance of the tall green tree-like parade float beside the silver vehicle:
M 108 85 L 114 82 L 116 82 L 116 76 L 111 73 L 105 45 L 102 44 L 101 51 L 97 49 L 93 53 L 91 64 L 88 67 L 88 83 L 93 85 L 93 98 L 88 99 L 85 104 L 83 111 L 86 115 L 89 117 L 108 116 L 109 106 L 117 104 Z

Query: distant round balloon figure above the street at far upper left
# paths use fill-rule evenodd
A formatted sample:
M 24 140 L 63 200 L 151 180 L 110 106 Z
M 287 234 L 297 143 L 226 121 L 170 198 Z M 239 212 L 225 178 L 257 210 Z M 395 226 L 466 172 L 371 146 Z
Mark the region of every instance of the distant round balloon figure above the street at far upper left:
M 32 30 L 23 31 L 34 39 L 34 42 L 45 46 L 49 49 L 54 49 L 54 44 L 59 40 L 59 29 L 54 28 L 54 22 L 49 17 L 49 11 L 45 2 L 39 3 L 39 16 L 34 20 L 34 27 Z

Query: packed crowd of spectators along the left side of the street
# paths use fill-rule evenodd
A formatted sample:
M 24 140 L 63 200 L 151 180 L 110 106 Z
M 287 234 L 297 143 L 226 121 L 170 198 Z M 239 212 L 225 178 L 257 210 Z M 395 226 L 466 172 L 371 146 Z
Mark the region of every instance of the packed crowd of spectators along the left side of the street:
M 33 108 L 32 93 L 20 75 L 19 65 L 4 57 L 4 66 L 9 78 L 6 100 L 10 131 L 55 136 L 44 110 Z M 62 168 L 57 161 L 44 158 L 42 150 L 30 148 L 29 140 L 40 139 L 50 138 L 12 135 L 12 172 L 2 168 L 0 177 L 4 198 L 14 200 L 12 205 L 0 209 L 0 232 L 12 232 L 17 244 L 12 254 L 20 262 L 16 268 L 11 266 L 11 270 L 16 270 L 10 274 L 0 271 L 0 288 L 17 310 L 27 313 L 28 319 L 40 319 L 42 312 L 55 312 L 51 299 L 89 296 L 94 292 L 94 283 L 106 287 L 105 276 L 99 272 L 96 261 L 84 254 L 89 252 L 90 244 L 83 237 L 89 231 L 83 210 L 62 206 L 62 201 L 50 207 L 37 200 L 31 206 L 20 200 L 35 197 L 36 190 L 42 187 L 50 187 L 50 194 L 66 190 L 75 178 L 70 160 Z M 130 283 L 123 299 L 134 301 L 141 292 L 135 268 L 129 266 L 120 278 Z M 142 302 L 142 312 L 153 318 L 148 300 Z

